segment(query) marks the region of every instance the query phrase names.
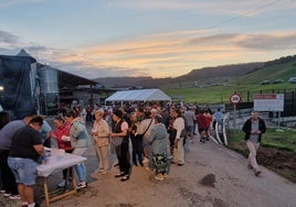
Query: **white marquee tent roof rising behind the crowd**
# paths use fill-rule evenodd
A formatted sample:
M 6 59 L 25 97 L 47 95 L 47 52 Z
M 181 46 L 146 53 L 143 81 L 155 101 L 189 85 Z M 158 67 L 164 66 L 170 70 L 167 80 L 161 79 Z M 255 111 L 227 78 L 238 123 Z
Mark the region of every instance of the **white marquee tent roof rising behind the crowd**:
M 168 100 L 171 98 L 160 89 L 123 90 L 117 91 L 105 101 L 152 101 Z

